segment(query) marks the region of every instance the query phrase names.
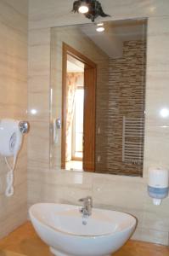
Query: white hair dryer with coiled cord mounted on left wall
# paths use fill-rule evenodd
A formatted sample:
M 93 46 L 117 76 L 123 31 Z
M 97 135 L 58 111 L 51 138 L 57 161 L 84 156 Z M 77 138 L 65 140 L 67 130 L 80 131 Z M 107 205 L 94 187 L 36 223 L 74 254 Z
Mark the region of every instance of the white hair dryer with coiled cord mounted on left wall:
M 14 166 L 20 151 L 23 134 L 29 131 L 26 121 L 14 119 L 0 119 L 0 154 L 5 157 L 8 166 L 7 189 L 5 195 L 14 195 Z M 13 166 L 8 164 L 7 157 L 13 156 Z

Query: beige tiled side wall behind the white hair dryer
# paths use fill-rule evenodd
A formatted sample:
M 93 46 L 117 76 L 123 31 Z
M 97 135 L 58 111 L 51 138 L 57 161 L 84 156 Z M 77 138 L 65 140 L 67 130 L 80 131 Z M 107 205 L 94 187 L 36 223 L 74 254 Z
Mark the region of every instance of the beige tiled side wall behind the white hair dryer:
M 27 119 L 27 0 L 0 1 L 0 119 Z M 0 156 L 0 237 L 25 222 L 26 137 L 14 171 L 14 196 L 6 197 L 8 168 Z

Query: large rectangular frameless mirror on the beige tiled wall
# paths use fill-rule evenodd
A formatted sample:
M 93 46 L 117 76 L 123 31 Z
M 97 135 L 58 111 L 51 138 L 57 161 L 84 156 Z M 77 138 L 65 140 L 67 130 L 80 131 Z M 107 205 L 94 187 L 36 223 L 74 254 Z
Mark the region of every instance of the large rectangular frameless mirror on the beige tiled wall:
M 53 168 L 143 175 L 147 20 L 51 30 Z

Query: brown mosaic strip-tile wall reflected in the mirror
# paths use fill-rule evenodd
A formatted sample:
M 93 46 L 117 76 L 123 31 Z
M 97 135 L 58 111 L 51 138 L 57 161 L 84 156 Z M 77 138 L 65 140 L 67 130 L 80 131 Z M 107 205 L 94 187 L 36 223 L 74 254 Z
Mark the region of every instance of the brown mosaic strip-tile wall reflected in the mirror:
M 109 83 L 101 84 L 97 91 L 96 172 L 142 176 L 142 162 L 122 161 L 122 134 L 124 116 L 144 119 L 145 55 L 144 40 L 127 41 L 123 43 L 123 56 L 109 61 Z M 102 94 L 106 92 L 104 98 Z M 98 132 L 100 125 L 104 129 L 101 127 Z M 134 141 L 144 145 L 144 127 Z

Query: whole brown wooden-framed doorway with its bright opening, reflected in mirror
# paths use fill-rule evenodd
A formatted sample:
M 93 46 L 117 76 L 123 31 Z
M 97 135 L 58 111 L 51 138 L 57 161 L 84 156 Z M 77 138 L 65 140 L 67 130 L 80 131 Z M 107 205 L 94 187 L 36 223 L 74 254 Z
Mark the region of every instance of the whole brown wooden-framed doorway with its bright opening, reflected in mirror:
M 61 167 L 94 172 L 96 64 L 63 44 Z

